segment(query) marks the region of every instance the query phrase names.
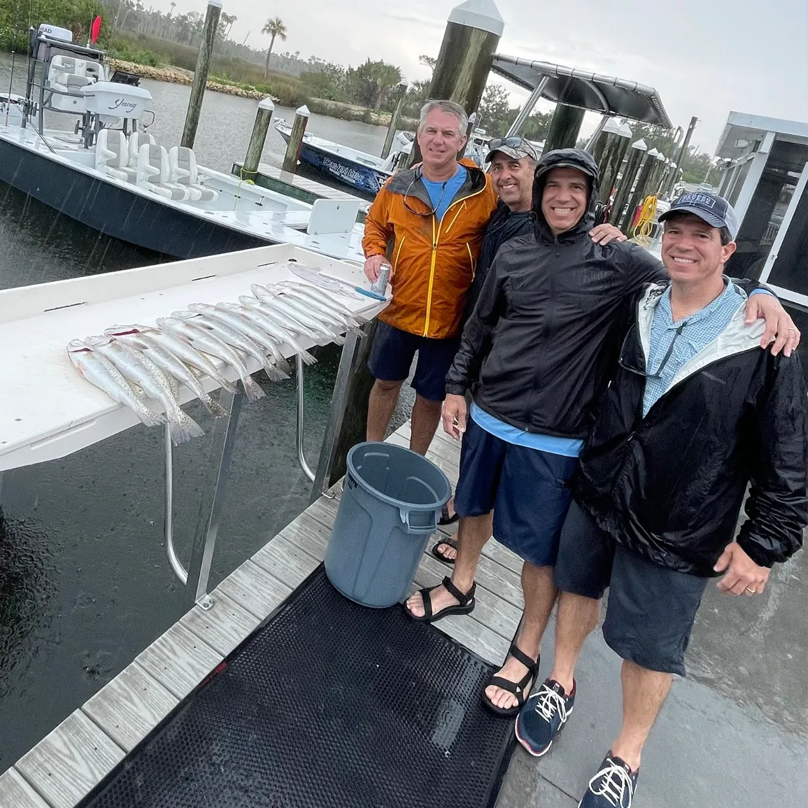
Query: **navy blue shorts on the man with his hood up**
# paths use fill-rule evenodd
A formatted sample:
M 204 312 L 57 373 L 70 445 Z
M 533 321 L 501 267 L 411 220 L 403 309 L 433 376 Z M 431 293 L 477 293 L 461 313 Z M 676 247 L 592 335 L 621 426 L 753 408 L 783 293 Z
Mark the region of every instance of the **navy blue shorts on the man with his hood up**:
M 469 415 L 460 455 L 455 510 L 461 516 L 494 511 L 494 538 L 524 561 L 554 566 L 558 537 L 578 468 L 577 457 L 509 444 Z

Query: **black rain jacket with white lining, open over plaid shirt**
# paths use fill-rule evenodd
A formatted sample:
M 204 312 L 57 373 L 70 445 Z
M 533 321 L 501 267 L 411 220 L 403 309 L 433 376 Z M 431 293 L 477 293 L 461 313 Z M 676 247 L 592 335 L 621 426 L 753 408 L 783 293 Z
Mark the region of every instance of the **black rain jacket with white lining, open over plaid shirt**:
M 717 575 L 733 541 L 760 566 L 783 562 L 808 524 L 806 385 L 796 354 L 760 348 L 764 325 L 730 324 L 685 364 L 642 416 L 650 321 L 666 284 L 633 306 L 636 319 L 581 455 L 574 498 L 600 527 L 650 561 Z

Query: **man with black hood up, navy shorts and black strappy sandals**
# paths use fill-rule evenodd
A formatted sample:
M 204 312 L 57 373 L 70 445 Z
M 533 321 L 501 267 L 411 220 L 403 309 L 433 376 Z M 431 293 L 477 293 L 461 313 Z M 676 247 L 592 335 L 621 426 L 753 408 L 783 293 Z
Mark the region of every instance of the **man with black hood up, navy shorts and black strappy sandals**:
M 533 232 L 499 248 L 446 380 L 444 429 L 456 439 L 465 432 L 455 503 L 460 546 L 451 579 L 415 593 L 406 608 L 423 621 L 472 611 L 493 511 L 494 537 L 525 561 L 520 635 L 483 696 L 499 714 L 518 712 L 535 677 L 556 596 L 553 566 L 570 505 L 567 482 L 617 361 L 629 302 L 650 281 L 667 278 L 662 264 L 636 244 L 592 242 L 598 191 L 597 166 L 587 152 L 559 149 L 541 158 Z M 776 298 L 755 294 L 747 314 L 766 316 L 765 309 L 771 322 L 763 344 L 776 330 L 784 336 L 772 350 L 789 335 L 787 349 L 795 347 L 797 332 L 789 332 L 793 322 Z

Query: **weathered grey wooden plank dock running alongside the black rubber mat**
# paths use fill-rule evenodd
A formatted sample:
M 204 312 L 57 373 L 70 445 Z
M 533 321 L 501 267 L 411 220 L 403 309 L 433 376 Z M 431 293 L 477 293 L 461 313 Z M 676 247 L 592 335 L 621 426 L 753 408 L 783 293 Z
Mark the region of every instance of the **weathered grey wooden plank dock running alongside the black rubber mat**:
M 409 438 L 407 423 L 389 441 L 407 446 Z M 456 441 L 440 431 L 427 457 L 457 482 Z M 0 808 L 73 808 L 85 797 L 322 562 L 341 490 L 340 482 L 326 491 L 219 584 L 212 609 L 192 608 L 3 773 Z M 414 590 L 435 586 L 450 572 L 428 553 L 433 543 Z M 521 616 L 521 562 L 493 540 L 483 553 L 474 612 L 445 617 L 436 628 L 499 663 Z

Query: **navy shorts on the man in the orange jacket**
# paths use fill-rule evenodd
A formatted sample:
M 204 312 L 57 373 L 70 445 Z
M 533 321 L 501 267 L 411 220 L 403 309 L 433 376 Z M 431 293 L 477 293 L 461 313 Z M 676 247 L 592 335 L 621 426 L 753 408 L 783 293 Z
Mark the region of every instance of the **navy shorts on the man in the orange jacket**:
M 446 374 L 452 367 L 460 337 L 430 339 L 379 322 L 368 360 L 368 370 L 374 379 L 404 381 L 418 351 L 418 364 L 412 388 L 422 398 L 442 402 L 446 398 Z

